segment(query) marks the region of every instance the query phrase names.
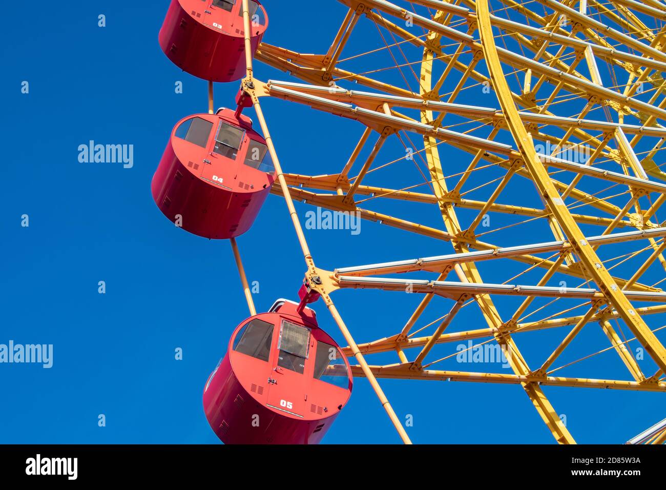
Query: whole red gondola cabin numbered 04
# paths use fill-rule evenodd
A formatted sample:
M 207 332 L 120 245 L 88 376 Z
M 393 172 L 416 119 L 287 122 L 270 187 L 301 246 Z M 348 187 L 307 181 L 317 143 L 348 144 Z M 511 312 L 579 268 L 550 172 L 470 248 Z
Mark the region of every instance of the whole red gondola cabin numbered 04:
M 273 185 L 266 140 L 231 109 L 182 119 L 153 177 L 153 199 L 179 227 L 208 239 L 250 229 Z

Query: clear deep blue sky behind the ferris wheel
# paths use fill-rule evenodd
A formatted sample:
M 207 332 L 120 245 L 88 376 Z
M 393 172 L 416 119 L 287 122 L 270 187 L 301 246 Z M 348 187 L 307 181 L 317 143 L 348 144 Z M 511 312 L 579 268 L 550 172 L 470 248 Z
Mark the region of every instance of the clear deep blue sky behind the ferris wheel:
M 325 52 L 345 13 L 335 1 L 307 3 L 307 12 L 284 2 L 265 3 L 270 26 L 264 41 L 305 53 Z M 71 1 L 48 5 L 45 13 L 19 3 L 3 6 L 0 343 L 53 344 L 54 359 L 51 369 L 0 364 L 0 443 L 218 442 L 202 411 L 202 389 L 230 333 L 248 313 L 229 244 L 174 229 L 151 199 L 151 178 L 173 125 L 207 109 L 206 82 L 182 73 L 157 43 L 167 5 Z M 98 27 L 99 14 L 106 15 L 107 27 Z M 366 19 L 359 25 L 346 55 L 382 46 L 374 25 Z M 388 67 L 392 60 L 384 53 L 372 63 Z M 256 77 L 288 79 L 260 63 Z M 397 73 L 387 77 L 402 80 Z M 22 81 L 29 82 L 29 94 L 21 93 Z M 176 81 L 182 81 L 184 93 L 174 92 Z M 413 76 L 410 83 L 414 88 Z M 216 106 L 233 105 L 237 90 L 237 83 L 216 84 Z M 498 105 L 493 93 L 477 91 L 475 97 L 478 105 Z M 284 101 L 263 104 L 287 172 L 340 171 L 362 133 L 353 121 Z M 133 168 L 79 163 L 77 147 L 89 140 L 134 145 Z M 402 145 L 390 143 L 380 161 L 403 154 Z M 468 163 L 456 155 L 447 159 L 449 173 Z M 396 180 L 404 172 L 404 181 L 418 182 L 413 165 L 388 172 Z M 538 202 L 524 179 L 511 192 L 524 193 L 525 205 Z M 304 222 L 312 208 L 297 209 Z M 421 208 L 394 203 L 377 209 L 442 227 L 435 207 L 420 215 Z M 27 228 L 21 227 L 24 214 Z M 551 239 L 547 233 L 493 237 L 502 245 L 539 238 Z M 358 236 L 308 231 L 308 240 L 325 269 L 451 252 L 448 243 L 368 222 Z M 239 244 L 250 281 L 260 282 L 254 297 L 258 309 L 267 309 L 277 297 L 296 299 L 305 269 L 282 198 L 268 198 Z M 488 277 L 492 267 L 485 269 Z M 99 281 L 106 283 L 105 295 L 97 291 Z M 354 291 L 341 291 L 334 299 L 359 342 L 397 333 L 419 300 Z M 434 302 L 424 320 L 436 319 L 450 304 Z M 510 304 L 515 307 L 515 301 Z M 344 343 L 323 305 L 314 308 L 322 327 Z M 476 307 L 461 315 L 461 329 L 486 327 Z M 598 325 L 589 330 L 589 347 L 579 354 L 607 346 Z M 565 331 L 539 335 L 519 337 L 519 345 L 536 349 L 532 363 L 544 359 Z M 182 361 L 174 359 L 177 347 Z M 452 351 L 449 346 L 441 352 Z M 563 356 L 563 362 L 576 358 Z M 398 358 L 385 355 L 370 362 Z M 599 362 L 585 371 L 590 377 L 612 373 L 628 379 L 614 353 Z M 448 364 L 468 369 L 454 366 Z M 400 419 L 413 415 L 408 433 L 414 442 L 553 443 L 519 386 L 396 380 L 383 380 L 382 386 Z M 659 393 L 544 391 L 581 443 L 621 443 L 665 416 Z M 106 427 L 98 427 L 99 414 L 105 414 Z M 357 379 L 350 403 L 324 443 L 397 442 L 368 382 Z

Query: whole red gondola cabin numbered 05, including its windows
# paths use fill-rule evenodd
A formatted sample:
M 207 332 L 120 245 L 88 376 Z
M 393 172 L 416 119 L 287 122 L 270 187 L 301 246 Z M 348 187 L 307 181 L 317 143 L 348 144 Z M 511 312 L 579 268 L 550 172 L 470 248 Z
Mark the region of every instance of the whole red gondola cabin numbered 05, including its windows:
M 316 444 L 351 393 L 349 363 L 314 311 L 280 299 L 236 328 L 203 402 L 225 444 Z

